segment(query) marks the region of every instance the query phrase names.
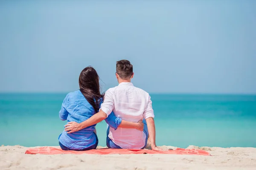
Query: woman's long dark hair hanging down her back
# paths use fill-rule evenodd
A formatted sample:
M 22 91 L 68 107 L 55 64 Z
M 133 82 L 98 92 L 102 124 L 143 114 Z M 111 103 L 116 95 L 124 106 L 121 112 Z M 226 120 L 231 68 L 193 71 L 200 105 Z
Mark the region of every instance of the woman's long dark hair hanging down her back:
M 93 67 L 88 66 L 81 71 L 79 88 L 85 99 L 87 99 L 97 113 L 100 107 L 100 99 L 103 95 L 100 94 L 99 76 Z

